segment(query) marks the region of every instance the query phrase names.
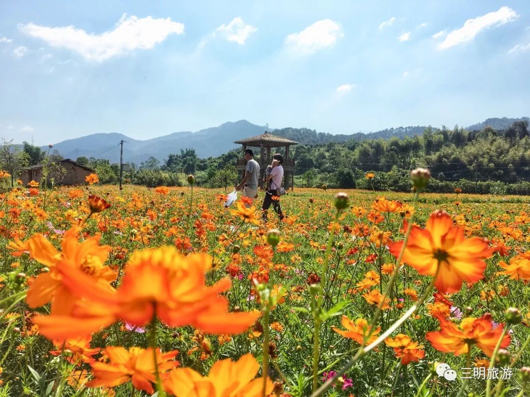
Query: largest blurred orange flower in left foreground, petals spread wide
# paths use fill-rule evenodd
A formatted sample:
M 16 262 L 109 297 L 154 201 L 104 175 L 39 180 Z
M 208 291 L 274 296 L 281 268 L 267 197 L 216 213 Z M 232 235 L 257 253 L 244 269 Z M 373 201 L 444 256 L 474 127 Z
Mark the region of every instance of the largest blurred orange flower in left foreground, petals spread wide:
M 240 333 L 259 317 L 254 312 L 228 312 L 219 296 L 229 290 L 229 278 L 205 285 L 211 268 L 206 254 L 182 256 L 175 247 L 136 251 L 130 258 L 118 290 L 89 279 L 79 269 L 65 268 L 63 282 L 78 301 L 69 315 L 40 316 L 33 321 L 49 338 L 83 336 L 122 320 L 142 327 L 156 316 L 170 327 L 191 325 L 208 333 Z M 53 313 L 52 313 L 53 314 Z

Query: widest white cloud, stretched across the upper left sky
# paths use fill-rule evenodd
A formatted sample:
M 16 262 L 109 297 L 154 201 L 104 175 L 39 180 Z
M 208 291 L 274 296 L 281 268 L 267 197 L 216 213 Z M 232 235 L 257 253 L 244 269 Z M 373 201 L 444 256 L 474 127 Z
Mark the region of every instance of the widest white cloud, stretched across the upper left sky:
M 182 34 L 184 24 L 170 18 L 123 14 L 113 30 L 101 34 L 87 33 L 73 25 L 52 28 L 28 23 L 19 25 L 19 29 L 52 47 L 75 51 L 89 61 L 103 62 L 135 49 L 151 49 L 172 33 Z

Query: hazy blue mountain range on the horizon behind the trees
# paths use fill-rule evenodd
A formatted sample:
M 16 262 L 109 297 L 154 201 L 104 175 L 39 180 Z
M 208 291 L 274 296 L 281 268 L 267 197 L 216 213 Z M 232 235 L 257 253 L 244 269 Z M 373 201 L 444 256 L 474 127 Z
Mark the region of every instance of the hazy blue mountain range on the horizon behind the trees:
M 482 123 L 471 125 L 465 129 L 479 130 L 486 125 L 491 125 L 495 129 L 506 129 L 514 121 L 520 120 L 528 120 L 528 118 L 492 118 Z M 308 128 L 272 129 L 252 124 L 246 120 L 239 120 L 197 132 L 174 132 L 169 135 L 146 140 L 129 138 L 115 132 L 96 133 L 56 143 L 54 149 L 63 157 L 74 160 L 77 157 L 85 156 L 87 158 L 108 159 L 111 163 L 118 163 L 120 160 L 119 142 L 123 140 L 125 141 L 123 144 L 123 162 L 139 164 L 149 157 L 164 161 L 169 154 L 179 153 L 180 149 L 186 148 L 195 149 L 200 158 L 219 156 L 229 150 L 240 147 L 234 141 L 262 134 L 266 130 L 299 143 L 314 145 L 331 141 L 344 142 L 350 139 L 365 140 L 376 138 L 388 139 L 392 137 L 403 138 L 405 136 L 413 137 L 416 134 L 421 135 L 425 128 L 425 126 L 399 127 L 370 133 L 333 135 L 330 133 L 316 132 Z M 47 151 L 48 147 L 42 147 L 42 149 Z

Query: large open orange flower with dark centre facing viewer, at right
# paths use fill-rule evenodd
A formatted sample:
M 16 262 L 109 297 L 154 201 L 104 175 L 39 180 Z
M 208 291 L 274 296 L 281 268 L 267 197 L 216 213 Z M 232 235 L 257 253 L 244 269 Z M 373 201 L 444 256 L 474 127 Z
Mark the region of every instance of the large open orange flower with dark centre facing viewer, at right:
M 388 246 L 398 258 L 403 241 Z M 453 227 L 451 216 L 438 210 L 431 214 L 425 229 L 412 227 L 402 263 L 428 276 L 435 275 L 439 266 L 435 286 L 438 291 L 448 293 L 459 291 L 463 281 L 479 281 L 486 267 L 483 259 L 491 255 L 492 249 L 484 239 L 465 238 L 464 229 Z

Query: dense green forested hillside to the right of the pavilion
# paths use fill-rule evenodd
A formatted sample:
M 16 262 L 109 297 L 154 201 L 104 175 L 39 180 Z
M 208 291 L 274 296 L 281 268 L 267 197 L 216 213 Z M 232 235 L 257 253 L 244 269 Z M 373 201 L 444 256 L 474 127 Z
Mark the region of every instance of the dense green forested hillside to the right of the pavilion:
M 530 181 L 530 138 L 528 121 L 514 122 L 505 131 L 491 127 L 481 131 L 427 128 L 421 136 L 389 140 L 349 140 L 325 145 L 294 147 L 297 174 L 328 185 L 351 187 L 361 182 L 365 172 L 375 172 L 370 184 L 392 190 L 405 186 L 399 175 L 414 167 L 430 169 L 437 182 L 462 179 L 475 183 L 499 181 L 515 184 Z M 397 178 L 397 179 L 396 179 Z M 449 186 L 449 185 L 448 185 Z M 375 186 L 374 186 L 375 187 Z

